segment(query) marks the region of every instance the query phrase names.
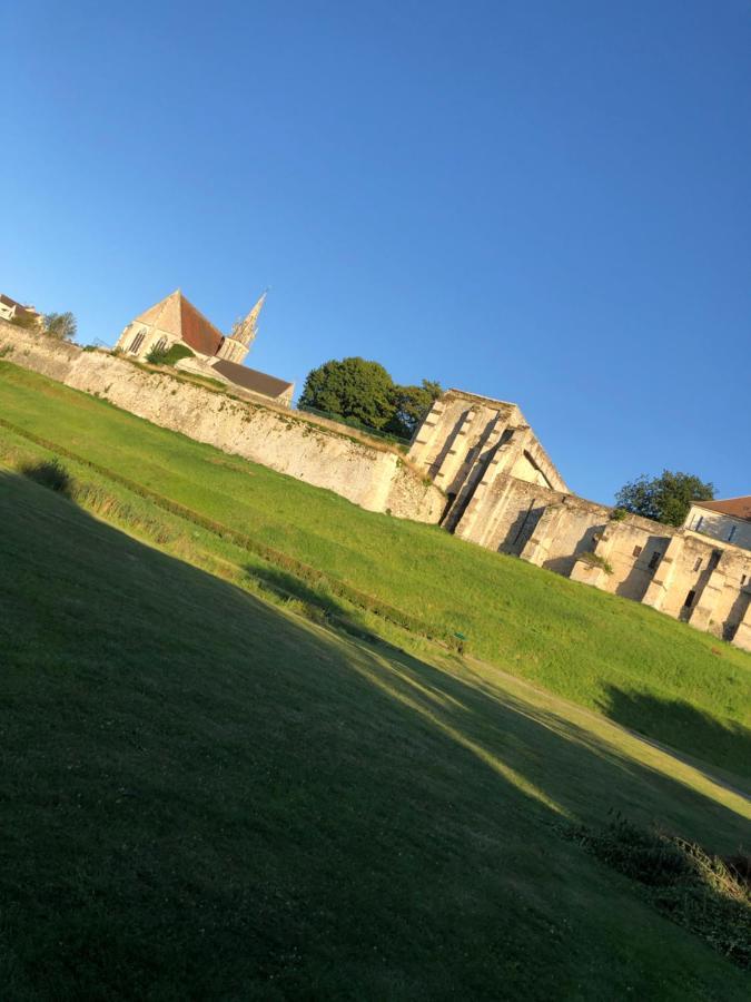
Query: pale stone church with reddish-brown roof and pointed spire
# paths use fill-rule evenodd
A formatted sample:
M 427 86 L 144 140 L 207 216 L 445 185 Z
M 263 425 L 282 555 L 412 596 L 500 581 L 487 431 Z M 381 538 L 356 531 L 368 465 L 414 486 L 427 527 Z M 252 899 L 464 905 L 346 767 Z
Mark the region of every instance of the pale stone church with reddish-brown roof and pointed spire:
M 185 345 L 192 357 L 181 358 L 177 369 L 208 375 L 241 392 L 290 406 L 294 383 L 243 364 L 256 340 L 265 298 L 264 293 L 250 313 L 238 321 L 229 334 L 223 334 L 177 289 L 131 321 L 116 347 L 136 358 L 146 358 L 154 350 L 167 351 L 175 344 Z

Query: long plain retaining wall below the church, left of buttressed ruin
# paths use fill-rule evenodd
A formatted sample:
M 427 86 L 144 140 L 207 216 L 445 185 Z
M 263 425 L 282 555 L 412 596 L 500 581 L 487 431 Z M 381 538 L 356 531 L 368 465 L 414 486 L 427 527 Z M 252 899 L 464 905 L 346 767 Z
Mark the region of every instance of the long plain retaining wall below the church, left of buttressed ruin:
M 235 400 L 165 370 L 0 321 L 0 355 L 154 424 L 328 488 L 368 511 L 437 522 L 445 498 L 395 450 L 295 411 Z

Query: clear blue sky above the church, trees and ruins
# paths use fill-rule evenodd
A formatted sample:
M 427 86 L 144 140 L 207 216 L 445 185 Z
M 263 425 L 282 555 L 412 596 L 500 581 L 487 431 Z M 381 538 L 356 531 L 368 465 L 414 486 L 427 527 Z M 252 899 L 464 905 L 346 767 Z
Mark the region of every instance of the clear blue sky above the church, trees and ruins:
M 0 291 L 517 402 L 573 490 L 751 492 L 751 2 L 10 0 Z

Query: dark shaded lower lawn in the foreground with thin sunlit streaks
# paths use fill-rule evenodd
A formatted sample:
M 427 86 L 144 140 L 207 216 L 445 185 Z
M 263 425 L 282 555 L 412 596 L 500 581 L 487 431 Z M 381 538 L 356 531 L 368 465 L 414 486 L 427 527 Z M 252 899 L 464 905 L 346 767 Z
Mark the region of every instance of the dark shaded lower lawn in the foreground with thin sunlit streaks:
M 8 473 L 0 524 L 6 998 L 744 998 L 560 832 L 613 806 L 732 848 L 701 773 Z

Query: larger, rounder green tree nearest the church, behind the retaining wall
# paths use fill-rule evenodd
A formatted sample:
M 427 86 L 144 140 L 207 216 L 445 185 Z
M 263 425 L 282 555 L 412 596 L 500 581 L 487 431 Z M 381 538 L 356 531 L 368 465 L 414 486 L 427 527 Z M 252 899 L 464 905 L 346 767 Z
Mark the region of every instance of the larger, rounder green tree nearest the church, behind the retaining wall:
M 378 362 L 332 360 L 308 373 L 299 405 L 382 429 L 394 416 L 394 381 Z

